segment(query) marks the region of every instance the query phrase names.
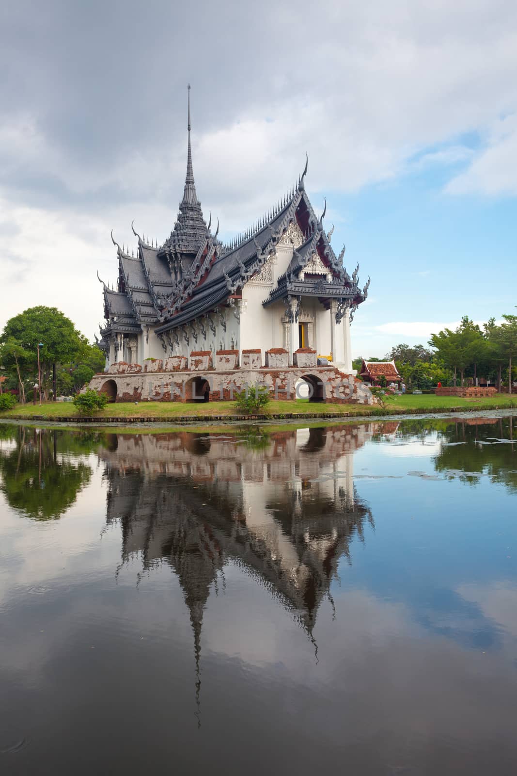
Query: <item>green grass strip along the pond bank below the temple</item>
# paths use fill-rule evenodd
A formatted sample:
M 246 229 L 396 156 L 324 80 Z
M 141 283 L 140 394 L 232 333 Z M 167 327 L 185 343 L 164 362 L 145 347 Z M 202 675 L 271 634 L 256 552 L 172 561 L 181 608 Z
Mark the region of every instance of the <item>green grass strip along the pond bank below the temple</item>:
M 311 404 L 307 400 L 298 401 L 271 401 L 267 407 L 267 414 L 289 415 L 319 414 L 324 417 L 327 414 L 367 415 L 373 409 L 373 414 L 397 414 L 415 412 L 444 411 L 447 408 L 461 408 L 465 410 L 500 409 L 504 407 L 517 407 L 517 395 L 508 396 L 507 393 L 498 393 L 495 397 L 486 399 L 462 399 L 458 397 L 436 397 L 434 394 L 422 394 L 412 396 L 391 397 L 386 399 L 384 410 L 379 407 L 364 407 L 362 404 Z M 103 417 L 163 417 L 164 420 L 174 421 L 175 417 L 197 415 L 203 417 L 230 416 L 240 414 L 233 402 L 217 401 L 208 404 L 181 404 L 180 402 L 140 402 L 139 404 L 108 404 L 104 411 L 95 414 L 99 420 Z M 0 417 L 22 416 L 27 419 L 33 416 L 44 416 L 51 421 L 54 417 L 78 417 L 73 404 L 69 402 L 47 402 L 40 407 L 38 404 L 17 405 L 9 412 L 2 412 Z

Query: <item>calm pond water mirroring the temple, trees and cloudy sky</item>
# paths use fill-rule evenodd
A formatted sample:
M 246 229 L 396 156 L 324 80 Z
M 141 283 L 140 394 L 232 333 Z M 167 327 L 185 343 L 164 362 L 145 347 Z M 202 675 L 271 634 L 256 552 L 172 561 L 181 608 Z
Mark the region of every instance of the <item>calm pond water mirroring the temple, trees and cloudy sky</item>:
M 515 774 L 515 427 L 0 424 L 0 773 Z

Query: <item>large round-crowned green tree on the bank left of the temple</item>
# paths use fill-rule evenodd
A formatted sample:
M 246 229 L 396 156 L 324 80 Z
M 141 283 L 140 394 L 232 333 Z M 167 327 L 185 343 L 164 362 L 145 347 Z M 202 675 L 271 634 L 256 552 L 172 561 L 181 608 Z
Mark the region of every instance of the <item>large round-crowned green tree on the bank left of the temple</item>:
M 69 318 L 56 307 L 43 306 L 30 307 L 7 321 L 0 337 L 0 345 L 9 341 L 16 342 L 26 353 L 26 367 L 33 373 L 37 369 L 39 343 L 43 343 L 40 348 L 41 387 L 47 393 L 52 374 L 54 400 L 57 393 L 57 363 L 75 359 L 84 345 L 84 338 Z

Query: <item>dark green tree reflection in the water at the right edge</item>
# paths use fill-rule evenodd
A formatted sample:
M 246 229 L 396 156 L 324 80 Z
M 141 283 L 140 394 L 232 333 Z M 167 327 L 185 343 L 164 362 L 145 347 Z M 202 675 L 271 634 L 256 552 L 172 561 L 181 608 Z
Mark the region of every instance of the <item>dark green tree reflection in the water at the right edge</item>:
M 442 445 L 434 461 L 436 471 L 445 475 L 461 472 L 461 479 L 470 484 L 478 483 L 481 475 L 491 476 L 494 482 L 517 491 L 517 440 L 515 444 L 497 442 L 513 439 L 514 424 L 512 417 L 450 421 L 440 438 L 463 444 Z

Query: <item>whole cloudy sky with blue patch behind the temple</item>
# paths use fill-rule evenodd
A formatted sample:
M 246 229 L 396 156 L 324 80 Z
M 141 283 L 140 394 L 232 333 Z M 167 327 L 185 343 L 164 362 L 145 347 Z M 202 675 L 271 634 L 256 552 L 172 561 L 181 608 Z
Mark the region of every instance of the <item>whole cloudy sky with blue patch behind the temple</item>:
M 222 238 L 295 181 L 371 275 L 354 355 L 515 312 L 512 0 L 5 0 L 0 326 L 59 307 L 93 338 L 109 237 L 163 241 L 186 157 Z

